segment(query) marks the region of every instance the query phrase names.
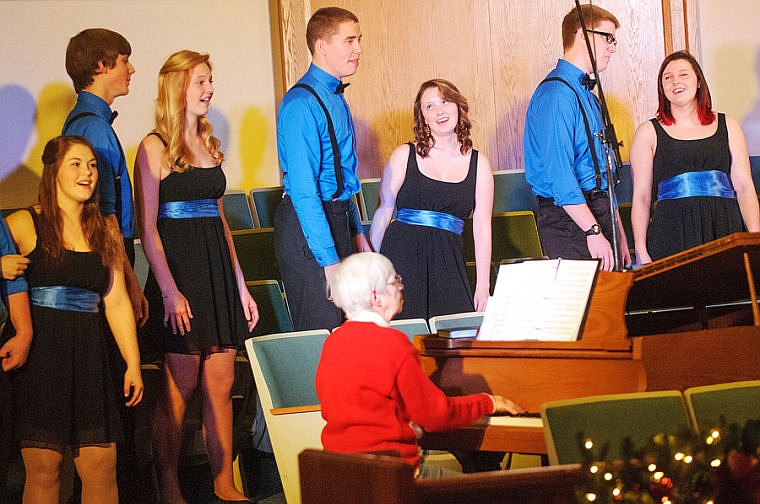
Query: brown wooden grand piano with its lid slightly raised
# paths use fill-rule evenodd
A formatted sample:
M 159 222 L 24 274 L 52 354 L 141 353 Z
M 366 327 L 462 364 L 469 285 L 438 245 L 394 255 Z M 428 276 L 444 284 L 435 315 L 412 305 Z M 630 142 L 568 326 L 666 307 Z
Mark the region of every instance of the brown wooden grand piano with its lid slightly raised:
M 736 233 L 633 272 L 599 272 L 577 341 L 415 343 L 447 394 L 490 392 L 531 412 L 559 399 L 760 379 L 759 278 L 760 233 Z M 422 445 L 546 453 L 540 419 L 522 417 L 426 434 Z

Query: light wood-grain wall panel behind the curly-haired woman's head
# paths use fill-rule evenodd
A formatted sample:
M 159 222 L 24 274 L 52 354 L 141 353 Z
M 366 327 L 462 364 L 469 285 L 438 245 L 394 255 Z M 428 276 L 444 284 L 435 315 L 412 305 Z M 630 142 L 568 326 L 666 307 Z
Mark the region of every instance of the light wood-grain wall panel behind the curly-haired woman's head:
M 323 4 L 336 2 L 312 1 L 315 9 Z M 473 140 L 483 149 L 494 121 L 485 0 L 353 0 L 337 5 L 359 17 L 364 37 L 362 63 L 346 92 L 361 177 L 379 176 L 393 149 L 413 139 L 414 97 L 431 78 L 452 81 L 468 98 Z

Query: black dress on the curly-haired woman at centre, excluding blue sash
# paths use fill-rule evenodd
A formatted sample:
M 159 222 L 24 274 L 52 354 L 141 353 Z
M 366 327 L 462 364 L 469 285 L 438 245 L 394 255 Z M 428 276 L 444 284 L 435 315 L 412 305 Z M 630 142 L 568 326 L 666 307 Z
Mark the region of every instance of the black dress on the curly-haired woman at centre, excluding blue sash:
M 414 146 L 409 144 L 406 177 L 396 197 L 396 207 L 433 210 L 467 219 L 475 208 L 477 166 L 478 151 L 473 149 L 464 180 L 434 180 L 420 172 Z M 397 318 L 427 320 L 475 309 L 461 235 L 393 221 L 385 232 L 380 253 L 404 278 L 404 306 Z

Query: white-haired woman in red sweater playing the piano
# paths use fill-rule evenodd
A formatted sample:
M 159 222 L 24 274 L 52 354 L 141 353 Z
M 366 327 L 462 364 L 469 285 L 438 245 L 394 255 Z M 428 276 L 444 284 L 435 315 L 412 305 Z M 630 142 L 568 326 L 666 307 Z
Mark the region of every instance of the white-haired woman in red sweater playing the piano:
M 401 311 L 404 285 L 384 256 L 349 256 L 328 283 L 347 321 L 325 341 L 317 367 L 326 450 L 395 450 L 419 469 L 420 429 L 457 429 L 494 412 L 525 411 L 485 393 L 447 397 L 430 381 L 407 336 L 388 327 Z

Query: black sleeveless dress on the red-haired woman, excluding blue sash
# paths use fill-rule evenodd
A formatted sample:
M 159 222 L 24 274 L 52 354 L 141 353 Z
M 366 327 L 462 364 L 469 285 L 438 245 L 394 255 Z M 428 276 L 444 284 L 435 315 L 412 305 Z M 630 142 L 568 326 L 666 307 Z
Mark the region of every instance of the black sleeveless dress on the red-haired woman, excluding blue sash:
M 657 149 L 652 167 L 653 201 L 660 182 L 686 172 L 720 170 L 730 176 L 726 116 L 718 114 L 714 135 L 696 140 L 678 140 L 652 119 Z M 652 260 L 744 230 L 736 198 L 694 196 L 658 201 L 647 231 L 647 251 Z

